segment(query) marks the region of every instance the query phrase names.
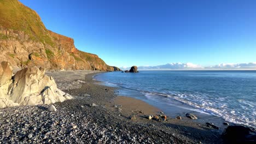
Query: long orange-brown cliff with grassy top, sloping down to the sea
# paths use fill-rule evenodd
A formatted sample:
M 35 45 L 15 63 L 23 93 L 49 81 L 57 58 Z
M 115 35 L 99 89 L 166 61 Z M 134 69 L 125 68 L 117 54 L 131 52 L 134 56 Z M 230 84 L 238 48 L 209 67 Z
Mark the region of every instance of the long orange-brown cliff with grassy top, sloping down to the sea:
M 97 55 L 79 51 L 72 38 L 45 28 L 39 15 L 18 0 L 0 1 L 0 61 L 14 68 L 120 70 Z

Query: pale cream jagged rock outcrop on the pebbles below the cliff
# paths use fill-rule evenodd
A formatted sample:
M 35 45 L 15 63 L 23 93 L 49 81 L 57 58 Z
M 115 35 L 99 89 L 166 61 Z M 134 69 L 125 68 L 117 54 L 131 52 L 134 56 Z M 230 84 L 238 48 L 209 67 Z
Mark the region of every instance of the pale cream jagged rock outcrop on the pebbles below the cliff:
M 0 107 L 53 104 L 72 97 L 57 88 L 53 77 L 45 75 L 45 68 L 24 68 L 12 76 L 8 62 L 0 67 Z

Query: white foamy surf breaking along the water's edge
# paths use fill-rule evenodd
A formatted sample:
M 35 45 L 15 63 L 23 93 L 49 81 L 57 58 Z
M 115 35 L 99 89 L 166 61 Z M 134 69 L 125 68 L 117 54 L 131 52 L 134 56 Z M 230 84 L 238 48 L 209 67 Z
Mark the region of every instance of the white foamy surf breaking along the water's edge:
M 97 77 L 95 77 L 97 79 Z M 120 81 L 119 81 L 120 82 Z M 121 83 L 123 82 L 123 83 Z M 255 104 L 244 99 L 237 99 L 238 103 L 224 97 L 213 97 L 212 95 L 201 92 L 179 92 L 169 89 L 148 89 L 136 85 L 130 85 L 129 82 L 104 82 L 104 85 L 128 89 L 142 93 L 147 99 L 152 101 L 163 100 L 168 105 L 175 105 L 183 109 L 193 110 L 208 115 L 217 116 L 225 121 L 237 124 L 245 124 L 256 127 L 254 109 Z M 148 89 L 148 91 L 144 91 Z M 161 92 L 159 92 L 161 91 Z

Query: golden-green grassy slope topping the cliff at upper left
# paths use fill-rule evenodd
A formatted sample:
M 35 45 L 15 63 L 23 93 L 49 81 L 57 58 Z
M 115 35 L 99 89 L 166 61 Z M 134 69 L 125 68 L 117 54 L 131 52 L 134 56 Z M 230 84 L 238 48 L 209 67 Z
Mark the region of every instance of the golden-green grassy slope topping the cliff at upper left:
M 30 35 L 31 40 L 55 45 L 39 15 L 18 0 L 0 0 L 0 25 L 23 31 Z

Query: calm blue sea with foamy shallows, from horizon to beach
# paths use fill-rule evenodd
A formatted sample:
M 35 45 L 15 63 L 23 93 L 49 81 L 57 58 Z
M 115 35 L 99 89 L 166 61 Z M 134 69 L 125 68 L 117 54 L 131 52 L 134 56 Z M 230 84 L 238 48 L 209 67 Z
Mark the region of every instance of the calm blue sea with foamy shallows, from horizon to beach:
M 144 100 L 160 109 L 175 106 L 256 127 L 254 70 L 117 71 L 98 74 L 94 79 L 117 87 L 119 95 Z

